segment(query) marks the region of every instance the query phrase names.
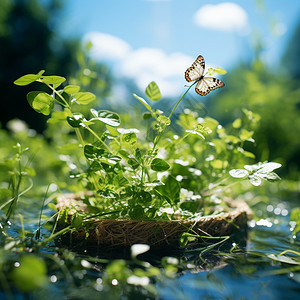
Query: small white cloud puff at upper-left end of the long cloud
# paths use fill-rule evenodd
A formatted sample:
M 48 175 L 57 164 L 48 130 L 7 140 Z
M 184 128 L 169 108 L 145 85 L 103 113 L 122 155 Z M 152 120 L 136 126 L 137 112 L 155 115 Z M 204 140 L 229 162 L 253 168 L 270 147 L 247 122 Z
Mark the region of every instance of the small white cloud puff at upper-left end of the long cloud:
M 91 56 L 101 61 L 122 59 L 131 50 L 124 40 L 102 32 L 89 32 L 83 40 L 92 42 Z

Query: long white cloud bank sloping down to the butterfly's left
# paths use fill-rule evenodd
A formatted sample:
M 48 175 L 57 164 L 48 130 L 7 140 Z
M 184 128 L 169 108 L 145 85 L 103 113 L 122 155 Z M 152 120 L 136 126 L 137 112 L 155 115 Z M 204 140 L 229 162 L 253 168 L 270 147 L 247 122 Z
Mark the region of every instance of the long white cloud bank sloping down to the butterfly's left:
M 141 90 L 155 81 L 163 97 L 178 96 L 185 84 L 184 72 L 193 62 L 193 58 L 180 52 L 167 54 L 157 48 L 132 50 L 126 41 L 101 32 L 88 33 L 84 41 L 92 42 L 94 59 L 110 62 L 116 78 L 131 78 Z

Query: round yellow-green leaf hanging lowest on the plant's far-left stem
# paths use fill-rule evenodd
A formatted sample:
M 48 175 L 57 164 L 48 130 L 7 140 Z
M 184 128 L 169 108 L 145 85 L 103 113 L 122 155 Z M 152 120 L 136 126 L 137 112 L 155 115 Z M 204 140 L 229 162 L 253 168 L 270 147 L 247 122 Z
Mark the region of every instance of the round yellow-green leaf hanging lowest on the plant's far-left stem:
M 27 100 L 29 105 L 38 113 L 42 113 L 43 115 L 50 115 L 51 111 L 54 107 L 53 98 L 45 93 L 39 91 L 29 92 L 27 94 Z

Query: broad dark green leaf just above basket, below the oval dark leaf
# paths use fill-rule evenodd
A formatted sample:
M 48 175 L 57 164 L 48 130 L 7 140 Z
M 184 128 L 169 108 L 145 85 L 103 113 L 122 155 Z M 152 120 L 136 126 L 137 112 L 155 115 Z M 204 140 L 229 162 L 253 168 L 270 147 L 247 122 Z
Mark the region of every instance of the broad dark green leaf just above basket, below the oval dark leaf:
M 171 205 L 176 204 L 180 200 L 180 184 L 173 176 L 168 176 L 164 181 L 164 185 L 155 188 L 168 203 Z

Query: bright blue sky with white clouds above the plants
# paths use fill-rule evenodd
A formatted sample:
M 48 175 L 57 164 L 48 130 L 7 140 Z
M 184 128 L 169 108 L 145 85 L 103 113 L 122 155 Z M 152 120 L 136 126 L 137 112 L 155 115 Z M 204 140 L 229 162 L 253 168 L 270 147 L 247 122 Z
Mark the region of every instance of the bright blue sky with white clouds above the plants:
M 59 31 L 94 44 L 95 59 L 142 89 L 155 80 L 176 95 L 183 73 L 202 54 L 207 66 L 228 71 L 253 55 L 259 35 L 263 58 L 275 66 L 300 18 L 298 0 L 65 0 Z M 263 5 L 259 5 L 262 3 Z

